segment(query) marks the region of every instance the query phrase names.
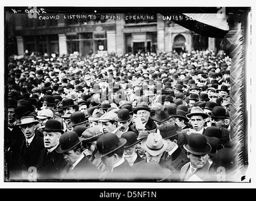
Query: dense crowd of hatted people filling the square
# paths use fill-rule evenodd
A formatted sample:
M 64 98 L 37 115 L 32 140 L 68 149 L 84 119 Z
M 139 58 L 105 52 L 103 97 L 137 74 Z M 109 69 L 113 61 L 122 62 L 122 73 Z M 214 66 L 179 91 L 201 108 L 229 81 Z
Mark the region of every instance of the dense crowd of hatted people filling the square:
M 10 57 L 5 180 L 239 180 L 230 67 L 208 50 Z

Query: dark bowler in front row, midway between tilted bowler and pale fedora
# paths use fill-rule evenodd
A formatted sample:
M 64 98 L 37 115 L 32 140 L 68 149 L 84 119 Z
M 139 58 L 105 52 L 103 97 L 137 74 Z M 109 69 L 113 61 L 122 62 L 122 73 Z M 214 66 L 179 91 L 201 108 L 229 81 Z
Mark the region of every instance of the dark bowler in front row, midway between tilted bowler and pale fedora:
M 125 138 L 118 138 L 114 133 L 106 133 L 103 134 L 99 139 L 97 139 L 97 151 L 95 153 L 96 158 L 101 158 L 103 156 L 116 151 L 116 149 L 125 146 L 126 144 Z

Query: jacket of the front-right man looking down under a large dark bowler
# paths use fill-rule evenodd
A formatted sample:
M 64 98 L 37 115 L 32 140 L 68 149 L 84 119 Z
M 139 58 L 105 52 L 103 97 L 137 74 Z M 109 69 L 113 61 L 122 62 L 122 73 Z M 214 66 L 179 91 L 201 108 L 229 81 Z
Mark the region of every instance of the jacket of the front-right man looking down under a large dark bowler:
M 181 181 L 187 181 L 189 179 L 189 164 L 186 163 L 184 166 L 181 168 Z M 198 176 L 201 180 L 203 181 L 211 181 L 211 178 L 209 177 L 209 168 L 210 164 L 208 161 L 206 161 L 206 164 L 203 166 L 203 168 L 199 168 L 194 172 L 194 175 Z

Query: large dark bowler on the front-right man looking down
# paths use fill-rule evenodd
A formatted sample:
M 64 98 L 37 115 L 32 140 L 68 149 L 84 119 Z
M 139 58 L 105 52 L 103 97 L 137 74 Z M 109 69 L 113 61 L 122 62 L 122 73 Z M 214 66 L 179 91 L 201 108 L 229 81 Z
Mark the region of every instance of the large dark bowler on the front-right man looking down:
M 211 145 L 207 143 L 206 137 L 199 133 L 191 133 L 183 147 L 194 155 L 206 155 L 211 151 Z

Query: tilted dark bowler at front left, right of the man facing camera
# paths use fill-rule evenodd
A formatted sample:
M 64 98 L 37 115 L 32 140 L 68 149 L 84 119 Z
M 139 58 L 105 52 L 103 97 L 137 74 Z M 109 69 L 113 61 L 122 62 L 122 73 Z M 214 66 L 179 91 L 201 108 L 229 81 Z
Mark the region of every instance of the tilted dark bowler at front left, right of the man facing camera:
M 56 152 L 65 153 L 77 146 L 79 143 L 82 143 L 82 141 L 84 141 L 84 138 L 79 138 L 77 133 L 74 131 L 66 132 L 60 136 L 60 144 L 58 144 Z

